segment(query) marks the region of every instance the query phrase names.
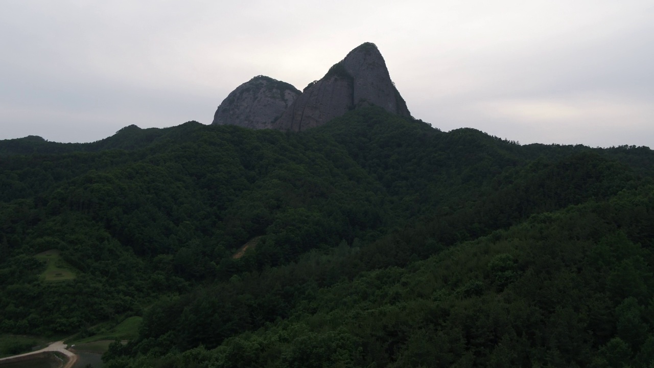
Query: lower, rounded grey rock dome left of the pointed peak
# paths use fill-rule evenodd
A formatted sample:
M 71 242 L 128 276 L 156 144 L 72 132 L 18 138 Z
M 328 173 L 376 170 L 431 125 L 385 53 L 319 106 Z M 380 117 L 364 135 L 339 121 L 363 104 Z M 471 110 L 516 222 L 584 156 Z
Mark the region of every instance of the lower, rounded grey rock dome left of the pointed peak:
M 291 84 L 259 75 L 238 86 L 220 103 L 211 124 L 273 128 L 300 94 Z

